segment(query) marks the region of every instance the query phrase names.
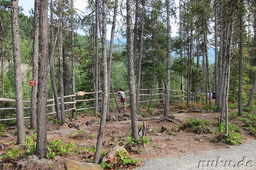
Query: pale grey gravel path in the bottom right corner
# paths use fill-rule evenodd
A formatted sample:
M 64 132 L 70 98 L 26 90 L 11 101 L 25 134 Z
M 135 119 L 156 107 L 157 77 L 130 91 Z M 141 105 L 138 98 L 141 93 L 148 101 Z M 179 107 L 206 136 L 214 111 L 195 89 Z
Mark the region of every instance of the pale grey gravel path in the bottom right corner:
M 203 162 L 204 161 L 204 162 Z M 208 163 L 209 162 L 209 163 Z M 212 165 L 211 165 L 212 164 Z M 240 146 L 156 158 L 136 170 L 256 169 L 256 140 Z

